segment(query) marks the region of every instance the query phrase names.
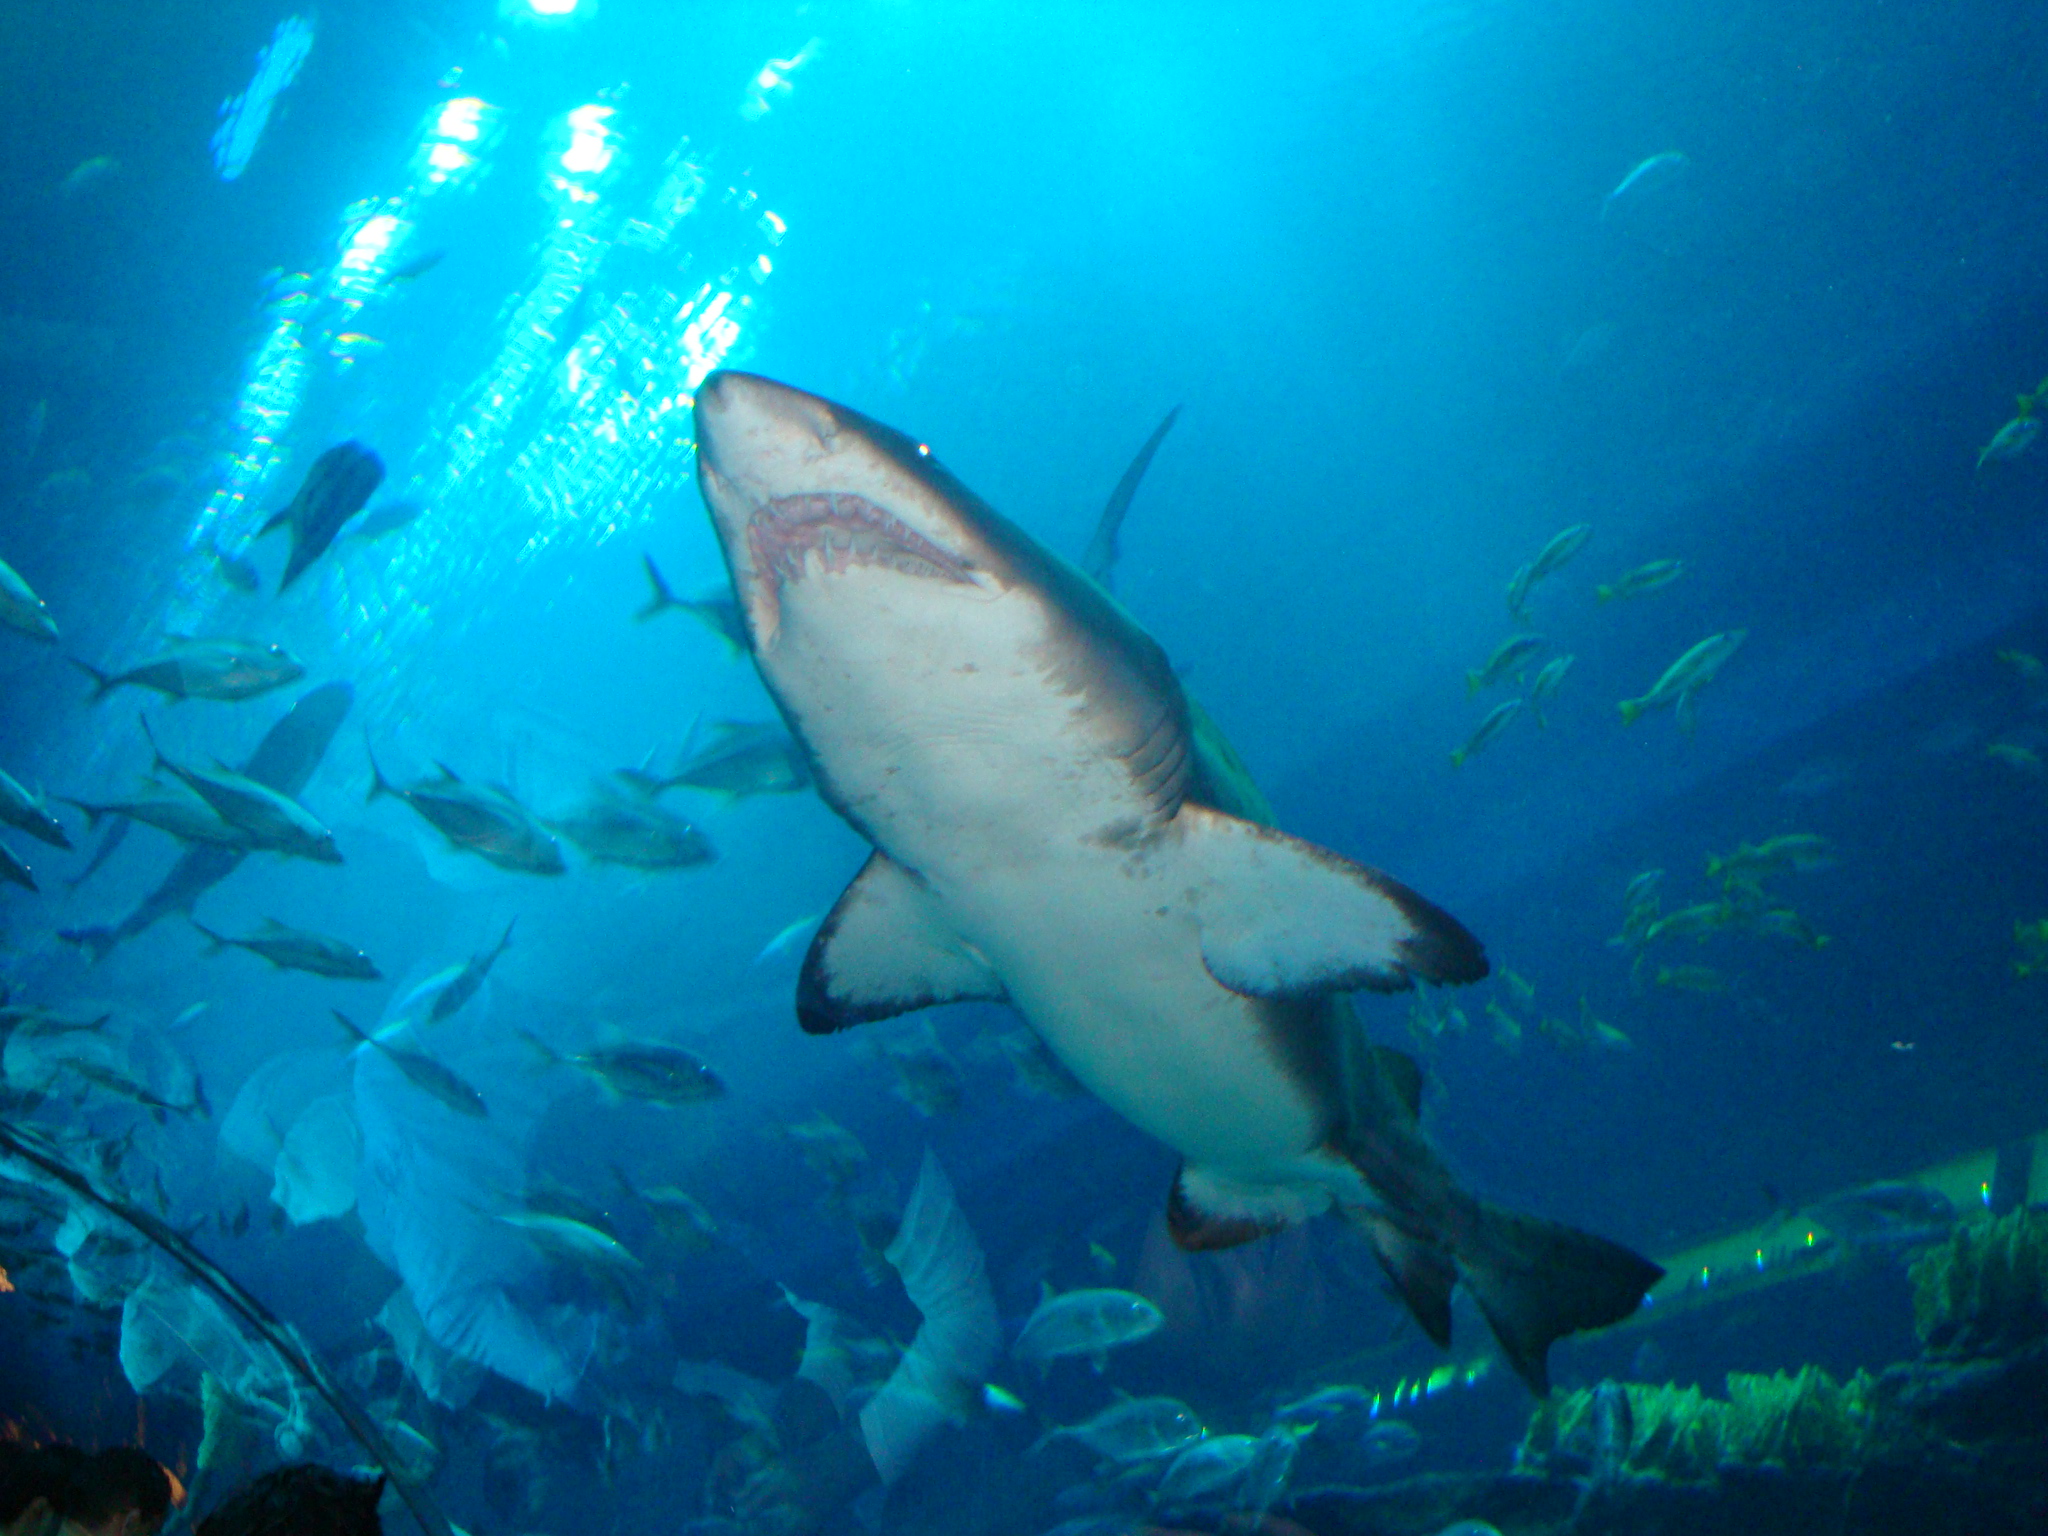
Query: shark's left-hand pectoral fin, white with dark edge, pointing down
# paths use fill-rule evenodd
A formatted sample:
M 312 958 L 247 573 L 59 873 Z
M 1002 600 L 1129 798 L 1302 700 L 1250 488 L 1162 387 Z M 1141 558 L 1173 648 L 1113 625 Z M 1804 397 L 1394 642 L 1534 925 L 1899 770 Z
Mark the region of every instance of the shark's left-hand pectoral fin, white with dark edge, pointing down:
M 924 883 L 874 852 L 803 956 L 797 1020 L 809 1034 L 831 1034 L 969 1001 L 1006 1001 L 1004 983 L 938 915 Z

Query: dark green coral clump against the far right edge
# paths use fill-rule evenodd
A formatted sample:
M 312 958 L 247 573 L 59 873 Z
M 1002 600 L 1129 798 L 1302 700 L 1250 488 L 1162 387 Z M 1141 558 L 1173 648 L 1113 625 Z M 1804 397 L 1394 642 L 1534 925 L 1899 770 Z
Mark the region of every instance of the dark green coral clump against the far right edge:
M 1964 1223 L 1909 1274 L 1929 1354 L 2007 1354 L 2048 1337 L 2048 1217 L 2036 1210 Z

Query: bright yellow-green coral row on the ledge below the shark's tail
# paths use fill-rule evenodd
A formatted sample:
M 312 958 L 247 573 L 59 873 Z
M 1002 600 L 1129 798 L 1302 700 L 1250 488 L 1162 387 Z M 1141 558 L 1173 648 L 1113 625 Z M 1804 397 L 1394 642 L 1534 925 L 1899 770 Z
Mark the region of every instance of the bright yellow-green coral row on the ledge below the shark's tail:
M 1810 1470 L 1849 1466 L 1870 1434 L 1872 1380 L 1858 1372 L 1847 1384 L 1806 1366 L 1798 1374 L 1729 1374 L 1729 1399 L 1698 1386 L 1632 1382 L 1628 1409 L 1634 1438 L 1626 1470 L 1673 1483 L 1704 1483 L 1722 1466 Z M 1585 1464 L 1593 1452 L 1593 1395 L 1542 1403 L 1522 1440 L 1522 1458 Z

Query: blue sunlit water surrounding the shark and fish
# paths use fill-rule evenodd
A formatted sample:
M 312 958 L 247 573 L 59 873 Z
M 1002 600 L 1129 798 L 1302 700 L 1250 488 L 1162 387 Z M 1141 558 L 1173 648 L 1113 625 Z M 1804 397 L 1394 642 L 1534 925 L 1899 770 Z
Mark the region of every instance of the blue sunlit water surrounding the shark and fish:
M 334 1362 L 381 1337 L 395 1249 L 453 1245 L 412 1260 L 416 1292 L 500 1266 L 528 1317 L 594 1350 L 524 1384 L 500 1372 L 479 1399 L 582 1446 L 551 1452 L 555 1503 L 532 1518 L 602 1501 L 610 1520 L 670 1485 L 694 1513 L 707 1432 L 674 1401 L 668 1438 L 625 1458 L 637 1470 L 600 1485 L 584 1452 L 672 1399 L 680 1358 L 786 1376 L 801 1325 L 778 1284 L 899 1341 L 915 1329 L 780 1130 L 817 1114 L 864 1145 L 874 1208 L 938 1153 L 1012 1329 L 1040 1280 L 1100 1282 L 1090 1239 L 1114 1284 L 1178 1298 L 1112 1384 L 1255 1432 L 1325 1362 L 1386 1339 L 1401 1350 L 1372 1370 L 1436 1362 L 1335 1223 L 1174 1257 L 1174 1155 L 1085 1098 L 1020 1096 L 973 1047 L 1014 1028 L 995 1010 L 934 1016 L 965 1102 L 932 1118 L 891 1094 L 860 1032 L 803 1036 L 801 944 L 756 956 L 864 858 L 815 797 L 682 791 L 668 803 L 715 864 L 635 874 L 571 854 L 561 879 L 494 870 L 401 805 L 365 805 L 365 741 L 403 782 L 444 762 L 561 815 L 709 721 L 772 717 L 707 627 L 633 618 L 643 555 L 676 592 L 723 582 L 688 424 L 721 360 L 901 426 L 1069 557 L 1182 408 L 1124 526 L 1118 596 L 1280 825 L 1395 872 L 1534 983 L 1534 1001 L 1501 981 L 1442 999 L 1473 1028 L 1419 1047 L 1432 1137 L 1489 1198 L 1665 1255 L 1774 1202 L 2044 1128 L 2044 983 L 2015 977 L 2013 926 L 2048 915 L 2048 780 L 1987 748 L 2048 754 L 2048 694 L 1999 659 L 2048 653 L 2048 451 L 1972 469 L 2048 371 L 2036 8 L 584 0 L 549 25 L 524 0 L 336 2 L 233 180 L 211 158 L 217 109 L 289 10 L 203 10 L 51 6 L 10 23 L 0 55 L 0 559 L 61 629 L 57 647 L 0 633 L 0 768 L 109 797 L 147 768 L 139 709 L 172 756 L 240 762 L 295 694 L 350 682 L 301 797 L 346 864 L 256 856 L 199 915 L 346 936 L 387 981 L 209 958 L 178 918 L 90 963 L 59 930 L 119 922 L 174 848 L 139 829 L 68 891 L 96 838 L 59 811 L 74 854 L 4 834 L 41 893 L 0 891 L 0 975 L 16 1001 L 111 1010 L 174 1051 L 213 1118 L 66 1096 L 10 1114 L 88 1141 L 139 1126 L 131 1171 L 156 1169 L 172 1225 L 211 1217 L 195 1241 Z M 467 98 L 477 137 L 438 131 Z M 598 109 L 575 119 L 598 125 L 584 160 L 580 109 Z M 444 182 L 434 143 L 459 152 Z M 1663 152 L 1686 164 L 1604 203 Z M 92 158 L 117 164 L 76 174 Z M 664 205 L 676 174 L 686 209 Z M 377 215 L 410 244 L 365 246 Z M 426 252 L 444 256 L 385 281 Z M 729 324 L 707 330 L 707 307 Z M 389 467 L 381 500 L 426 510 L 272 596 L 285 539 L 256 528 L 342 438 Z M 1579 522 L 1591 541 L 1530 606 L 1577 657 L 1546 729 L 1516 721 L 1452 768 L 1511 696 L 1462 684 L 1516 627 L 1509 575 Z M 260 596 L 221 580 L 215 547 L 256 561 Z M 1595 600 L 1651 559 L 1686 573 Z M 1671 711 L 1622 727 L 1618 700 L 1731 629 L 1747 643 L 1692 735 Z M 88 707 L 63 659 L 131 666 L 178 633 L 281 641 L 307 678 L 236 705 L 125 690 Z M 1774 883 L 1823 948 L 1718 934 L 1649 965 L 1710 965 L 1724 995 L 1632 977 L 1608 942 L 1630 877 L 1667 870 L 1667 909 L 1706 899 L 1710 854 L 1786 831 L 1833 846 L 1829 868 Z M 477 1001 L 432 1034 L 489 1100 L 479 1139 L 385 1063 L 344 1057 L 328 1010 L 385 1020 L 514 918 Z M 1581 997 L 1626 1051 L 1540 1036 Z M 1487 999 L 1528 1026 L 1520 1047 L 1485 1024 Z M 1417 1049 L 1403 999 L 1364 1012 Z M 729 1092 L 621 1106 L 543 1069 L 518 1030 L 563 1049 L 659 1038 Z M 285 1053 L 311 1083 L 293 1108 L 352 1092 L 367 1145 L 406 1163 L 342 1219 L 285 1225 L 268 1169 L 221 1145 L 238 1092 Z M 690 1190 L 721 1229 L 631 1317 L 444 1221 L 467 1198 L 451 1190 L 520 1182 L 618 1204 L 614 1163 Z M 223 1231 L 244 1204 L 248 1229 Z M 645 1237 L 645 1217 L 618 1221 Z M 1806 1331 L 1688 1335 L 1669 1372 L 1880 1364 L 1911 1348 L 1903 1294 L 1890 1276 Z M 61 1343 L 104 1341 L 119 1317 L 37 1323 L 14 1300 L 0 1417 L 129 1434 L 121 1366 Z M 1481 1339 L 1460 1313 L 1460 1358 Z M 1565 1343 L 1554 1372 L 1589 1382 L 1630 1350 Z M 1016 1384 L 1044 1423 L 1104 1401 L 1085 1366 Z M 152 1399 L 166 1460 L 197 1454 L 195 1393 L 186 1370 Z M 1464 1407 L 1430 1403 L 1425 1464 L 1501 1464 L 1518 1393 L 1497 1372 Z M 461 1413 L 426 1421 L 469 1444 Z M 977 1524 L 1055 1524 L 1020 1470 L 1034 1432 L 952 1434 L 977 1487 L 1030 1489 Z M 328 1456 L 354 1450 L 336 1438 Z M 543 1528 L 479 1489 L 475 1448 L 451 1454 L 436 1495 L 461 1526 Z M 928 1470 L 901 1520 L 961 1497 Z

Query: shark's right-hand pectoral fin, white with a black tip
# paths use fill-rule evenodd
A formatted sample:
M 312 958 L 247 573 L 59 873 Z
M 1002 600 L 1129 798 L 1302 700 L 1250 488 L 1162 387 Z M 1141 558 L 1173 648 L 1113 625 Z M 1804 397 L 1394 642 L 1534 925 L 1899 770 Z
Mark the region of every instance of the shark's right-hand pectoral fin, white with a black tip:
M 1487 975 L 1456 918 L 1378 870 L 1206 805 L 1184 805 L 1176 825 L 1202 963 L 1231 991 L 1315 997 Z

